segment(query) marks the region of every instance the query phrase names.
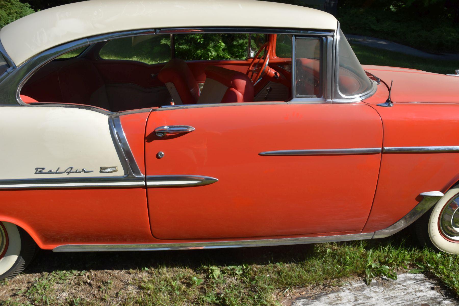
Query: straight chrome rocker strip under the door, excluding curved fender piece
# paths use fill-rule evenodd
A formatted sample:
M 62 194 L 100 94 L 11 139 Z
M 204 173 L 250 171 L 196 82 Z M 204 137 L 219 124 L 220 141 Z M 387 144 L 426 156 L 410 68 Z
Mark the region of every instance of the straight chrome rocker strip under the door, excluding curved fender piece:
M 271 245 L 302 245 L 308 243 L 351 241 L 371 239 L 373 233 L 347 234 L 320 237 L 237 240 L 237 241 L 205 241 L 183 243 L 157 243 L 157 244 L 132 244 L 132 245 L 59 245 L 53 252 L 91 252 L 91 251 L 149 251 L 149 250 L 195 250 L 195 249 L 221 249 L 245 248 Z

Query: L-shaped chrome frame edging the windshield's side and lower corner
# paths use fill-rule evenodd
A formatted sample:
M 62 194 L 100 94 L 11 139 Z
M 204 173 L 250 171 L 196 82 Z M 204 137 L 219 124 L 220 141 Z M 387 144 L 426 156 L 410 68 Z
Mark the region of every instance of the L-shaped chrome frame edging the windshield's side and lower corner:
M 339 89 L 339 69 L 340 69 L 340 65 L 339 65 L 339 59 L 340 59 L 340 48 L 339 48 L 339 40 L 340 40 L 340 30 L 341 30 L 341 25 L 340 25 L 340 22 L 338 21 L 338 26 L 336 28 L 336 35 L 335 35 L 335 38 L 334 38 L 334 42 L 333 42 L 333 51 L 334 51 L 334 55 L 333 55 L 333 63 L 334 63 L 334 67 L 333 67 L 333 72 L 334 72 L 334 76 L 333 76 L 333 90 L 332 90 L 332 103 L 355 103 L 355 102 L 360 102 L 364 99 L 367 99 L 369 97 L 371 97 L 372 95 L 374 95 L 376 93 L 376 90 L 377 90 L 377 82 L 375 80 L 372 80 L 370 78 L 370 81 L 372 83 L 372 86 L 371 88 L 366 91 L 366 92 L 363 92 L 361 94 L 358 94 L 358 95 L 351 95 L 351 96 L 347 96 L 347 95 L 343 95 Z M 361 64 L 360 64 L 361 65 Z M 339 94 L 339 96 L 335 96 L 336 93 Z

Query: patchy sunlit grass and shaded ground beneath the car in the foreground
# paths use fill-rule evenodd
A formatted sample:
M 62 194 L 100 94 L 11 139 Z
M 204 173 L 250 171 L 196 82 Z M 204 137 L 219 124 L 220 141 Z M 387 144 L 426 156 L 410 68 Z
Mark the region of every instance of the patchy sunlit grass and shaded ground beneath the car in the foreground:
M 34 274 L 3 281 L 0 289 L 14 293 L 3 305 L 261 306 L 346 278 L 369 283 L 410 271 L 437 277 L 458 294 L 458 256 L 418 248 L 403 236 L 229 250 L 48 252 L 26 270 Z

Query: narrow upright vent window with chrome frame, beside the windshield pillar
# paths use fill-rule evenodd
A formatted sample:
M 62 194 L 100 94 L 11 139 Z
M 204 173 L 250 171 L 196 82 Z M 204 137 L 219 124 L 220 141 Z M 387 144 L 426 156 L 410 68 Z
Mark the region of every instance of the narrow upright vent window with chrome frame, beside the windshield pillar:
M 295 91 L 297 97 L 321 96 L 319 38 L 297 38 L 295 43 Z

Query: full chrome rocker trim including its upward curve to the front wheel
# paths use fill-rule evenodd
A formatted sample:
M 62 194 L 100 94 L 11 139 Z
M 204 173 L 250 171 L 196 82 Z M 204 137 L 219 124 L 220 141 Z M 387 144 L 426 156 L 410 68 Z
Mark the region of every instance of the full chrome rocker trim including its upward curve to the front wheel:
M 148 251 L 148 250 L 202 250 L 220 248 L 244 248 L 255 246 L 272 245 L 301 245 L 308 243 L 337 242 L 365 240 L 388 237 L 406 228 L 416 221 L 443 196 L 440 191 L 429 191 L 420 194 L 423 199 L 405 217 L 388 228 L 375 231 L 374 233 L 346 234 L 333 236 L 316 236 L 300 238 L 280 239 L 258 239 L 258 240 L 236 240 L 236 241 L 204 241 L 204 242 L 182 242 L 182 243 L 157 243 L 157 244 L 130 244 L 130 245 L 58 245 L 53 252 L 99 252 L 99 251 Z

